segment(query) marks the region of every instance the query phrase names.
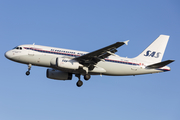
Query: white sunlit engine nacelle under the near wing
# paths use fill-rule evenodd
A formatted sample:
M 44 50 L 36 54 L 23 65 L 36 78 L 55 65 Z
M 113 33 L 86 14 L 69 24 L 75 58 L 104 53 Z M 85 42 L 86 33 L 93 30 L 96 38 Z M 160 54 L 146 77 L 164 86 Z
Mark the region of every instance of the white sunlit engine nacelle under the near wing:
M 65 68 L 65 69 L 79 69 L 82 66 L 76 60 L 68 59 L 68 58 L 56 58 L 56 67 Z

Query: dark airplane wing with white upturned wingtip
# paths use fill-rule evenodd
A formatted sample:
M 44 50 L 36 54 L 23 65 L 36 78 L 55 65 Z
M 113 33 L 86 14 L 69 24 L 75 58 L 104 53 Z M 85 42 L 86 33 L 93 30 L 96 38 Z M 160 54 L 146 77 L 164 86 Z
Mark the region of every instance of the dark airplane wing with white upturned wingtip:
M 104 58 L 114 54 L 115 52 L 117 52 L 117 48 L 124 45 L 124 44 L 128 44 L 128 41 L 124 41 L 124 42 L 116 42 L 112 45 L 109 45 L 107 47 L 101 48 L 99 50 L 90 52 L 88 54 L 82 55 L 80 57 L 74 58 L 75 60 L 77 60 L 80 64 L 83 64 L 87 67 L 89 67 L 90 65 L 95 65 L 97 64 L 99 61 L 103 60 Z

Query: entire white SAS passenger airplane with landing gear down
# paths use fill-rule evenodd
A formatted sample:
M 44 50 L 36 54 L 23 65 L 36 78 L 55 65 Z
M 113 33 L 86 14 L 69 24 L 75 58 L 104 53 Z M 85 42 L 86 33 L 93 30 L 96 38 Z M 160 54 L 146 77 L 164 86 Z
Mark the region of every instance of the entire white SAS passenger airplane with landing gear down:
M 93 52 L 41 46 L 35 44 L 19 45 L 5 53 L 9 60 L 31 66 L 47 67 L 46 76 L 55 80 L 72 80 L 73 74 L 78 77 L 76 85 L 81 87 L 80 76 L 89 80 L 91 75 L 135 76 L 170 71 L 166 66 L 174 60 L 162 62 L 164 51 L 169 40 L 168 35 L 160 35 L 141 54 L 135 58 L 116 55 L 117 48 L 126 44 L 116 42 Z

